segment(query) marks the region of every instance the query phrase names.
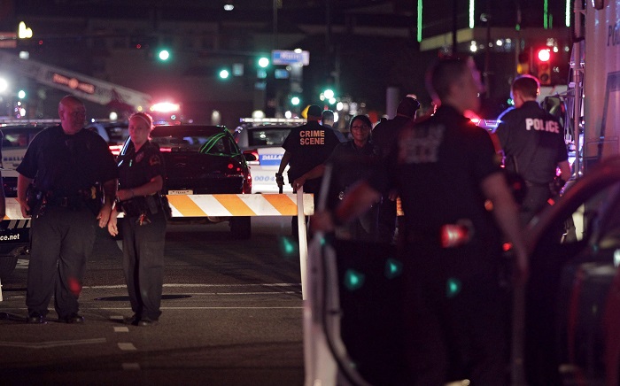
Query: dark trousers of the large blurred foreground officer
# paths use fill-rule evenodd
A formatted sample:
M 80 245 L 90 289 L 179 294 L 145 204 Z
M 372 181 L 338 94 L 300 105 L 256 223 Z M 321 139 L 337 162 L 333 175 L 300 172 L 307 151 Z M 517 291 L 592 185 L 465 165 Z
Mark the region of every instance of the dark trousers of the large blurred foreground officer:
M 403 384 L 441 385 L 469 374 L 472 385 L 506 384 L 506 294 L 479 248 L 407 245 L 408 374 Z M 446 379 L 446 374 L 448 379 Z

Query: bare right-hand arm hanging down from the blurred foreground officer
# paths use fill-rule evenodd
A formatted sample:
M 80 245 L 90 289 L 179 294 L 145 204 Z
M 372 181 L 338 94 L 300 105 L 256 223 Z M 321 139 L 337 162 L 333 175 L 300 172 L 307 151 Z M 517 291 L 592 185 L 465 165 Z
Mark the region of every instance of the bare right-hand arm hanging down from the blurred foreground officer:
M 481 183 L 484 196 L 491 200 L 493 216 L 500 225 L 504 235 L 508 237 L 515 251 L 515 263 L 519 270 L 519 279 L 525 280 L 528 274 L 528 252 L 525 248 L 523 234 L 519 223 L 519 212 L 515 204 L 504 174 L 493 173 Z

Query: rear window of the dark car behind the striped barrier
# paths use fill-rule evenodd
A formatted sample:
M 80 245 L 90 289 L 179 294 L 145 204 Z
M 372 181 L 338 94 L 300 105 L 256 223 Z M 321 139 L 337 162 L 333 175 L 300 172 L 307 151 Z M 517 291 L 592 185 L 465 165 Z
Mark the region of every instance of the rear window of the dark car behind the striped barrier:
M 159 144 L 162 152 L 195 152 L 201 154 L 227 155 L 237 154 L 229 135 L 225 133 L 215 133 L 208 135 L 204 133 L 187 135 L 153 136 L 152 143 Z

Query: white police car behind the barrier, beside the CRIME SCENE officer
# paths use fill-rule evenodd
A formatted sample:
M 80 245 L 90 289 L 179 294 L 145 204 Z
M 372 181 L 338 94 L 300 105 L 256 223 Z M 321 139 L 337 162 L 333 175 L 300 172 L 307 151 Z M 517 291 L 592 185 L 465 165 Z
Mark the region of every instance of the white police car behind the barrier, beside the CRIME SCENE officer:
M 284 155 L 282 144 L 292 127 L 306 123 L 303 119 L 242 118 L 235 129 L 235 140 L 245 154 L 253 154 L 250 161 L 252 171 L 252 193 L 278 193 L 275 174 Z M 286 166 L 285 170 L 288 170 Z M 284 183 L 283 193 L 291 193 L 290 183 Z

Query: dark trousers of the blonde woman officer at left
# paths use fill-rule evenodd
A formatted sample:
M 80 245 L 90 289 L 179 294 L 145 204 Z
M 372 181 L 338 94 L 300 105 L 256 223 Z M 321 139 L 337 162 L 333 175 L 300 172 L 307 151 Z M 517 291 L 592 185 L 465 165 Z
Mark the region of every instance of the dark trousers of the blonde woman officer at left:
M 126 216 L 122 224 L 123 271 L 129 302 L 134 313 L 158 320 L 164 283 L 166 216 L 160 210 L 148 215 L 151 222 L 140 225 L 138 219 Z

